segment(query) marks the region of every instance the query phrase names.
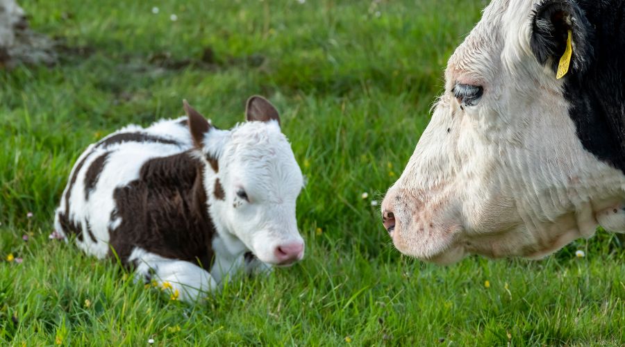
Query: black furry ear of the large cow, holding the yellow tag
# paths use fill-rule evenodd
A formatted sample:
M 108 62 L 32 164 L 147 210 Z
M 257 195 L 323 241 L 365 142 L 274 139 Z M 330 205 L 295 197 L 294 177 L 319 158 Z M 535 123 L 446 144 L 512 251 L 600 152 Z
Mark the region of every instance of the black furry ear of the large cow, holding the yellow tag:
M 530 45 L 541 65 L 550 64 L 557 71 L 569 31 L 573 49 L 569 71 L 583 73 L 594 54 L 594 29 L 583 10 L 573 0 L 545 0 L 537 4 L 532 15 Z

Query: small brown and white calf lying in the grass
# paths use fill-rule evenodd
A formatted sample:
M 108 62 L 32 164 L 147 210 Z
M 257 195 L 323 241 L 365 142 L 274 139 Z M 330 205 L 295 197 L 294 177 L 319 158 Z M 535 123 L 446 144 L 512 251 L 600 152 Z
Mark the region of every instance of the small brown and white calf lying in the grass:
M 303 176 L 263 97 L 252 96 L 247 121 L 230 130 L 183 107 L 186 117 L 126 126 L 90 145 L 54 224 L 85 253 L 119 260 L 191 303 L 236 271 L 302 259 Z

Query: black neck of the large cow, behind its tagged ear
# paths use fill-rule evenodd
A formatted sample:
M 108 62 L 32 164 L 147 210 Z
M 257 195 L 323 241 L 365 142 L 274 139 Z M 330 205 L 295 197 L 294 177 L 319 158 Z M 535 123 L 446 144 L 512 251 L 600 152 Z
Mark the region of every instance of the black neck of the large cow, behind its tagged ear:
M 594 27 L 594 57 L 567 76 L 565 98 L 585 149 L 625 174 L 625 0 L 578 0 Z

